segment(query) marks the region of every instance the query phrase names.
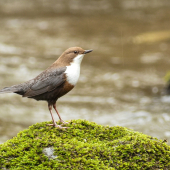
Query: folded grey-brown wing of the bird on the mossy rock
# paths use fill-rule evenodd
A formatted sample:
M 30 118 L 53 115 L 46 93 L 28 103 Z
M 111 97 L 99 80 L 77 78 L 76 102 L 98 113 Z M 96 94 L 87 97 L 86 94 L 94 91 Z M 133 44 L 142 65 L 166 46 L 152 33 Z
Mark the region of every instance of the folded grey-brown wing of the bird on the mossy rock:
M 38 75 L 23 97 L 33 97 L 54 90 L 65 82 L 66 67 L 46 70 Z

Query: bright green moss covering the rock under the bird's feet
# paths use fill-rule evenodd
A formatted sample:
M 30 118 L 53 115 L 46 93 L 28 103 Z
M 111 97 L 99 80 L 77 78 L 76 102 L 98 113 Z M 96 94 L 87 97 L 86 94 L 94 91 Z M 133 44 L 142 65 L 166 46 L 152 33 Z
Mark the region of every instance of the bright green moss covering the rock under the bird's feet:
M 70 122 L 67 129 L 30 126 L 0 145 L 0 168 L 10 170 L 170 169 L 170 146 L 123 127 Z M 53 159 L 43 152 L 53 148 Z

